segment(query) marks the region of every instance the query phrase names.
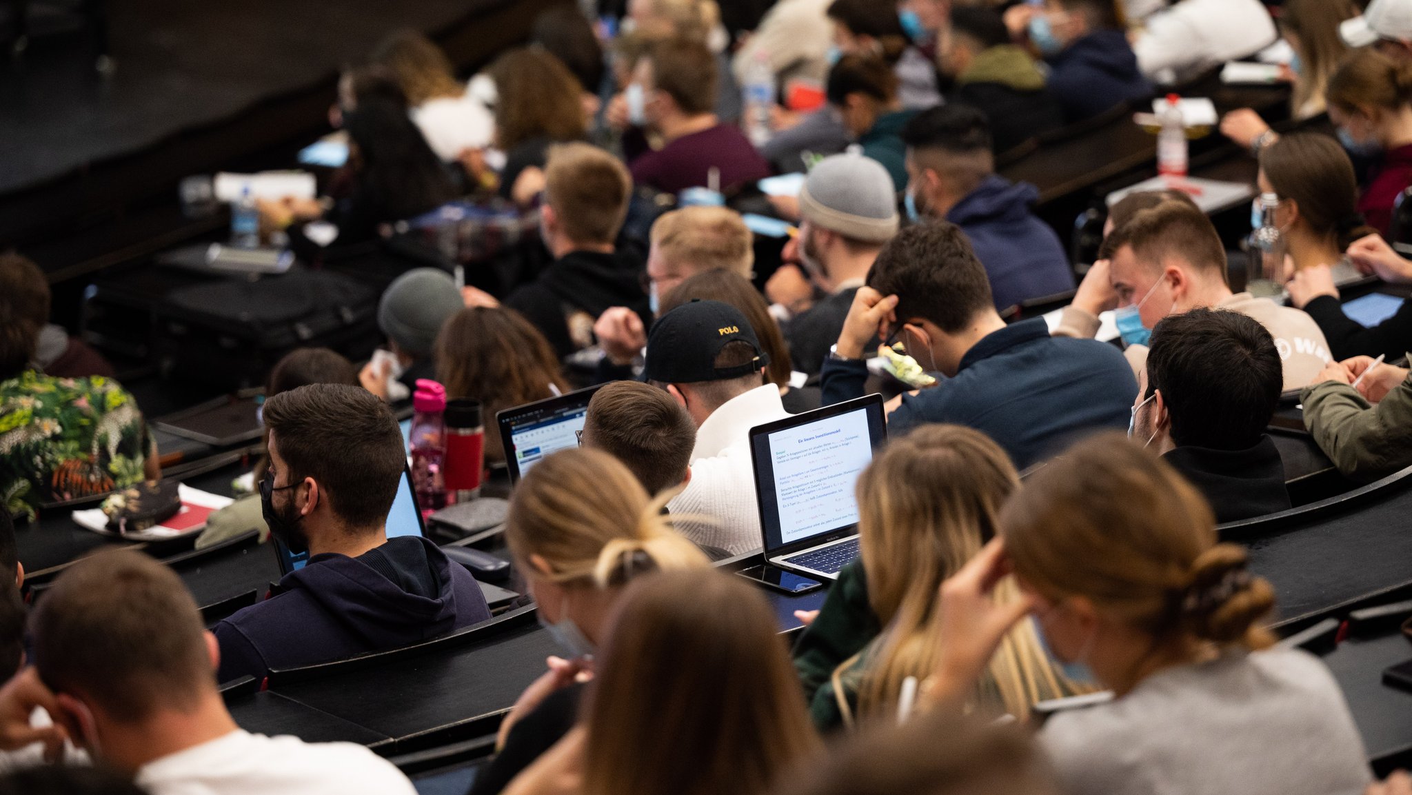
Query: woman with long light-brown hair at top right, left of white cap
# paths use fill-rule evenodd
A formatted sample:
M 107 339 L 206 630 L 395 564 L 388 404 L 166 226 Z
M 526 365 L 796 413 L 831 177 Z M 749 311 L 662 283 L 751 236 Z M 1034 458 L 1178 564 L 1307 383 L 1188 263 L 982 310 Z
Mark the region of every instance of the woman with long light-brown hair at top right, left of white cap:
M 1279 32 L 1295 59 L 1289 64 L 1289 76 L 1295 90 L 1289 95 L 1289 114 L 1293 119 L 1312 119 L 1326 110 L 1324 89 L 1334 66 L 1348 51 L 1339 37 L 1339 25 L 1358 16 L 1353 0 L 1288 0 L 1279 16 Z M 1221 133 L 1247 147 L 1255 155 L 1279 136 L 1269 124 L 1248 107 L 1231 110 L 1221 117 Z

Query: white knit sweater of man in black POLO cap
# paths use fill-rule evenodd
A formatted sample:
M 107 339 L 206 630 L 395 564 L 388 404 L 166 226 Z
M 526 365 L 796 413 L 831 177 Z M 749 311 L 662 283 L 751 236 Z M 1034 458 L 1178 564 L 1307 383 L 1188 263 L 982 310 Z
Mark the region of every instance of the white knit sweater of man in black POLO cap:
M 731 555 L 764 545 L 750 465 L 750 429 L 785 417 L 789 412 L 779 402 L 779 390 L 765 384 L 726 401 L 702 422 L 692 450 L 692 479 L 668 503 L 672 517 L 682 517 L 676 525 L 682 534 Z

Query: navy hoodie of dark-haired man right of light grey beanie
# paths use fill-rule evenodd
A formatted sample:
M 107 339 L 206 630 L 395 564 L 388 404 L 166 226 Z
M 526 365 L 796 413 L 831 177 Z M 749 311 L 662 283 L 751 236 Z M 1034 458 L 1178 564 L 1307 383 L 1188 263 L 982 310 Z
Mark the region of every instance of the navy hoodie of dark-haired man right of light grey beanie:
M 1034 185 L 991 174 L 946 213 L 946 220 L 970 237 L 976 258 L 986 265 L 997 309 L 1073 289 L 1073 271 L 1059 236 L 1029 212 L 1036 201 L 1039 189 Z

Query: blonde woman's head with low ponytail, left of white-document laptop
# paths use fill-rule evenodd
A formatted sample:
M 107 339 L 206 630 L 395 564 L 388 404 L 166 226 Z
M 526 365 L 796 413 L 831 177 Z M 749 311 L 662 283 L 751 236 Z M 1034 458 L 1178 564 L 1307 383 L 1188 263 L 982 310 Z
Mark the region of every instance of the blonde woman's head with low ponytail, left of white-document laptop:
M 671 528 L 665 500 L 602 450 L 556 452 L 531 469 L 510 500 L 505 542 L 549 621 L 575 613 L 570 600 L 609 593 L 638 573 L 706 566 L 706 556 Z M 575 616 L 582 623 L 582 616 Z M 590 635 L 594 627 L 585 626 Z

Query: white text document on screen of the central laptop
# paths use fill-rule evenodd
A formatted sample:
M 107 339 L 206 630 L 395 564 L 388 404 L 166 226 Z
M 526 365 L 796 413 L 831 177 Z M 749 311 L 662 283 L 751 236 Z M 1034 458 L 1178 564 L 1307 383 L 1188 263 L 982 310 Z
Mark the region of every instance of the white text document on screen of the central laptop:
M 782 544 L 858 522 L 853 487 L 873 460 L 867 410 L 777 431 L 768 439 Z

